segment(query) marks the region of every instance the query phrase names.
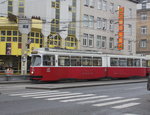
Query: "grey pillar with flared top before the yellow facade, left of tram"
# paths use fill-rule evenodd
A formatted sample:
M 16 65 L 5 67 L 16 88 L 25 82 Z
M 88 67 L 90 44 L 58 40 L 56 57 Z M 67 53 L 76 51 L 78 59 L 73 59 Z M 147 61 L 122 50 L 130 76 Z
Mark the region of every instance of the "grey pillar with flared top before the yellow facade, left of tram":
M 22 34 L 22 52 L 21 52 L 21 75 L 27 74 L 27 43 L 28 33 L 31 31 L 31 20 L 26 17 L 19 17 L 19 31 Z

